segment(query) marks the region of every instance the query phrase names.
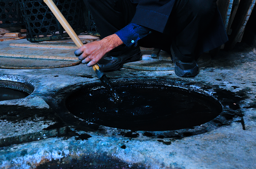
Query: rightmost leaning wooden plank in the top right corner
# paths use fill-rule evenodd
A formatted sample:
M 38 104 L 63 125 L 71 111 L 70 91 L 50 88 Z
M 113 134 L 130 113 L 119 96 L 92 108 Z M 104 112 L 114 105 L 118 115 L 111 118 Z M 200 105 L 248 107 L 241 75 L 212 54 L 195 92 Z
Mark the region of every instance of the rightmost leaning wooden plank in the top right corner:
M 227 43 L 227 48 L 233 48 L 237 42 L 241 41 L 246 23 L 252 13 L 256 0 L 240 1 L 236 17 L 231 25 L 232 33 Z

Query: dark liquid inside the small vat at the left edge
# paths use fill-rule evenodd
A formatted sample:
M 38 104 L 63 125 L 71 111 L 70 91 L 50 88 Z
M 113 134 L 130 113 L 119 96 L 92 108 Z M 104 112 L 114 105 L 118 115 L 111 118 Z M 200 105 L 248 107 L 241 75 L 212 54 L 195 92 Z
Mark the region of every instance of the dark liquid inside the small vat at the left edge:
M 29 94 L 15 89 L 0 88 L 0 101 L 20 99 L 27 97 Z

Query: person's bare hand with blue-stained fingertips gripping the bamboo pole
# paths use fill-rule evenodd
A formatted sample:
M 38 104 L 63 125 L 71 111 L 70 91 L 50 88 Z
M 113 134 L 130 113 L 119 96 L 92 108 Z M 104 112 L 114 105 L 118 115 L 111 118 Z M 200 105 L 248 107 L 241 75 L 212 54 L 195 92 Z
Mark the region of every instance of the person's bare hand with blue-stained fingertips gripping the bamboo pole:
M 123 41 L 116 35 L 110 35 L 102 40 L 90 42 L 81 46 L 75 51 L 75 56 L 87 63 L 88 67 L 95 65 L 106 53 L 123 44 Z

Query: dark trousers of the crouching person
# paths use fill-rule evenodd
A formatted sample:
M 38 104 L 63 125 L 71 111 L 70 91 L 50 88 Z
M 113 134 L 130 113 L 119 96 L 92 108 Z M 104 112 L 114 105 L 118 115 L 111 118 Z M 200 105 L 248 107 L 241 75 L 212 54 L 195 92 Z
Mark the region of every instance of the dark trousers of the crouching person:
M 135 12 L 136 4 L 130 0 L 84 0 L 92 14 L 102 38 L 112 35 L 128 25 Z M 178 58 L 192 61 L 199 56 L 201 37 L 207 31 L 216 12 L 216 0 L 176 0 L 165 34 L 153 31 L 139 40 L 139 45 L 159 48 L 170 52 L 170 46 Z M 149 18 L 150 19 L 150 18 Z M 114 53 L 126 50 L 125 45 L 114 49 Z

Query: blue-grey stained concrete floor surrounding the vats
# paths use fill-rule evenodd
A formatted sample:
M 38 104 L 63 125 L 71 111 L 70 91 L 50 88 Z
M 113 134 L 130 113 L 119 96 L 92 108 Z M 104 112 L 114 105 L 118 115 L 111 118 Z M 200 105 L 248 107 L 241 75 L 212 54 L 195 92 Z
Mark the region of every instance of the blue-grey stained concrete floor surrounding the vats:
M 9 43 L 1 42 L 0 48 Z M 55 94 L 72 84 L 99 82 L 95 72 L 83 64 L 0 69 L 0 80 L 34 87 L 26 98 L 0 101 L 0 112 L 5 112 L 0 113 L 0 168 L 255 169 L 255 68 L 256 54 L 238 44 L 233 50 L 221 51 L 194 78 L 180 78 L 174 71 L 124 68 L 106 73 L 117 81 L 165 80 L 206 91 L 223 105 L 224 115 L 207 124 L 165 132 L 129 131 L 82 120 L 77 123 L 80 127 L 72 126 L 66 114 L 61 114 L 57 102 L 61 98 Z

